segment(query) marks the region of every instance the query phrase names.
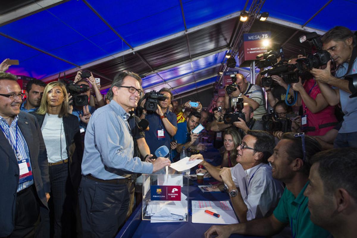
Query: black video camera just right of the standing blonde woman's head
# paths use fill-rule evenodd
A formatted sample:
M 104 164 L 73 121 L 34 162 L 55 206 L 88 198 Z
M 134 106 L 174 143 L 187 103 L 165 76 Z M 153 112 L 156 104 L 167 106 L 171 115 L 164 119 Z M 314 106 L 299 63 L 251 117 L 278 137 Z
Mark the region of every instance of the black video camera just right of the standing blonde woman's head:
M 72 95 L 72 104 L 75 106 L 86 106 L 88 105 L 88 96 L 79 95 L 89 90 L 89 86 L 86 84 L 76 85 L 73 81 L 68 79 L 61 80 L 66 85 L 67 93 Z M 71 104 L 71 105 L 72 105 Z

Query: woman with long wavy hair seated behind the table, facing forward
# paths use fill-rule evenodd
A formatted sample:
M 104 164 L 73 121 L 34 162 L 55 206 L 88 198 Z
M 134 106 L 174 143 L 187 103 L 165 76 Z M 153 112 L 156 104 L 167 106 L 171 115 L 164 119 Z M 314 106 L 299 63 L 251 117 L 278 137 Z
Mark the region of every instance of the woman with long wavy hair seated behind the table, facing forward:
M 238 130 L 234 128 L 228 128 L 226 130 L 226 132 L 223 134 L 223 159 L 221 165 L 218 166 L 219 168 L 231 168 L 237 164 L 237 147 L 241 144 L 241 141 L 242 139 L 238 133 Z M 200 168 L 196 170 L 196 174 L 197 173 L 207 173 L 207 170 Z

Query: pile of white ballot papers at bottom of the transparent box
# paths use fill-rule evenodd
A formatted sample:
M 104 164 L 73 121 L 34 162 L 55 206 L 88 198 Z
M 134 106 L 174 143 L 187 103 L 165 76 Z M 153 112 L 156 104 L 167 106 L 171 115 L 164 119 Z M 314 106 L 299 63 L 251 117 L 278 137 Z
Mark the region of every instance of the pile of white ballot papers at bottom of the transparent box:
M 150 201 L 146 215 L 151 222 L 182 222 L 187 217 L 187 196 L 181 193 L 181 201 Z

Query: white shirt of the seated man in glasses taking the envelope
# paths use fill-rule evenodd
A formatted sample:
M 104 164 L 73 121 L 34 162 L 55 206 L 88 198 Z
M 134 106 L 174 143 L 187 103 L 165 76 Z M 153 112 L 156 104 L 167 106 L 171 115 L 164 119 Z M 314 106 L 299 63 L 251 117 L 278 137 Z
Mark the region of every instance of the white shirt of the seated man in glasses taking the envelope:
M 258 164 L 244 170 L 241 164 L 231 168 L 233 182 L 247 205 L 247 220 L 272 214 L 284 192 L 281 182 L 273 179 L 269 164 Z

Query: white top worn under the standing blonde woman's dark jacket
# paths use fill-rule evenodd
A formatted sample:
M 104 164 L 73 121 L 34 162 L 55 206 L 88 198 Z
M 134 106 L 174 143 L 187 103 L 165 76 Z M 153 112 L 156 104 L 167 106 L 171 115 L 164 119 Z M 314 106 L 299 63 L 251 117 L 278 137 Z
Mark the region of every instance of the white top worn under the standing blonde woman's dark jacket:
M 46 145 L 48 162 L 56 163 L 67 159 L 68 155 L 63 119 L 59 118 L 58 115 L 46 113 L 41 132 Z

